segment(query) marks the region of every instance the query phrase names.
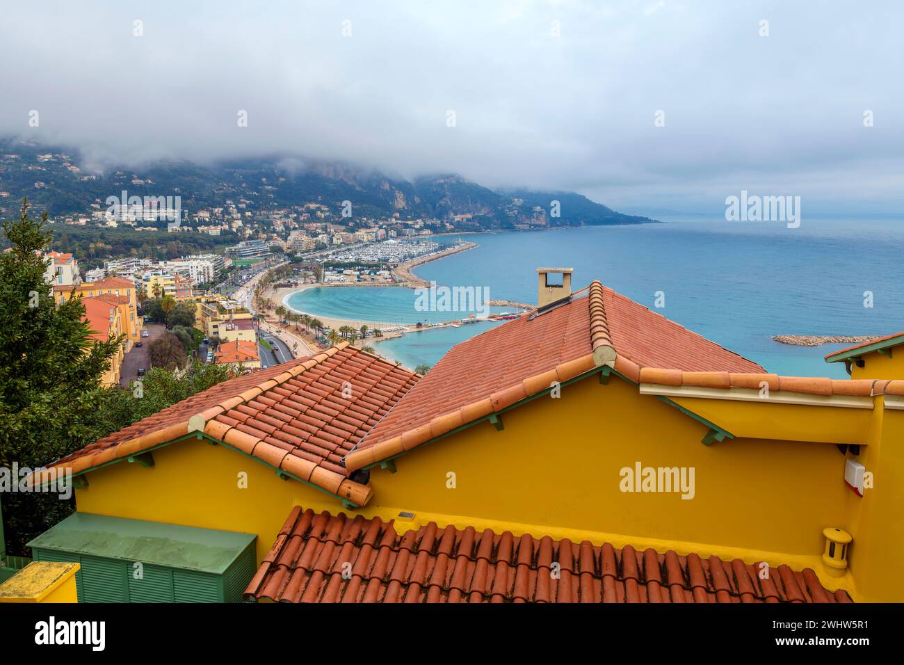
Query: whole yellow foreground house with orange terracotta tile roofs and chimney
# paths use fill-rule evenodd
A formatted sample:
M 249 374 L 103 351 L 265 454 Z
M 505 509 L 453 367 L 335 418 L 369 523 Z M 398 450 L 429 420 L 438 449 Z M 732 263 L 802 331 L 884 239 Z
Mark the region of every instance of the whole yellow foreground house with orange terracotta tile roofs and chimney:
M 80 513 L 254 535 L 249 599 L 904 600 L 904 381 L 768 374 L 544 272 L 426 376 L 343 344 L 53 466 Z

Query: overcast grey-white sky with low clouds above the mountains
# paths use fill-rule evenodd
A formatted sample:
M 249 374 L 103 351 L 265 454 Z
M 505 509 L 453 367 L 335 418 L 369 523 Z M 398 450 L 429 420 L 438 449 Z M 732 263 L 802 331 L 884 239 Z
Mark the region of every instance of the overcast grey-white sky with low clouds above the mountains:
M 902 33 L 899 0 L 20 0 L 0 7 L 0 133 L 98 163 L 456 172 L 627 212 L 741 189 L 904 212 Z

